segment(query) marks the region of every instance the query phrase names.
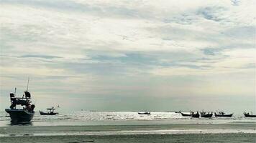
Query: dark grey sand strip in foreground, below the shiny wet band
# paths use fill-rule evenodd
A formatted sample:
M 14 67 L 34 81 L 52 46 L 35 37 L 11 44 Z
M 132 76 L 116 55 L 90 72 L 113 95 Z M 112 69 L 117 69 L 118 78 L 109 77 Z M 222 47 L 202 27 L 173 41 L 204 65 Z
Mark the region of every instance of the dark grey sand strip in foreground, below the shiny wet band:
M 255 142 L 256 134 L 123 134 L 123 135 L 73 135 L 73 136 L 39 136 L 39 137 L 1 137 L 1 143 L 9 142 Z

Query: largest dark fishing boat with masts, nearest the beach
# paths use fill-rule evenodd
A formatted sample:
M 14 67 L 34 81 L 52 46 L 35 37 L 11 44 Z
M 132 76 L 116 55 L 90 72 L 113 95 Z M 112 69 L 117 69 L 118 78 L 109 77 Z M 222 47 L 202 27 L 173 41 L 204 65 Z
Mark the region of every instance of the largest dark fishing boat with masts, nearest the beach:
M 27 83 L 28 90 L 28 83 Z M 5 111 L 9 114 L 11 122 L 17 124 L 20 122 L 30 122 L 34 117 L 35 105 L 31 104 L 31 94 L 26 91 L 24 92 L 23 97 L 16 97 L 16 88 L 14 93 L 10 93 L 11 106 Z M 23 107 L 21 109 L 17 108 L 17 105 Z

